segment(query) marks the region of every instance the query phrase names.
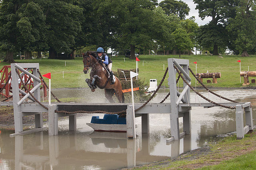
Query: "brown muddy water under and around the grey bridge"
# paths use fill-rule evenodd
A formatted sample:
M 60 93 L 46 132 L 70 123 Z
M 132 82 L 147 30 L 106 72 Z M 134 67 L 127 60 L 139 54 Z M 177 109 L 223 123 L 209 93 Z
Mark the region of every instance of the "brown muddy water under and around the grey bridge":
M 75 96 L 83 102 L 106 102 L 104 91 L 98 89 L 93 97 L 90 97 L 88 89 L 56 89 L 53 92 L 58 98 Z M 167 93 L 168 89 L 161 89 L 152 103 L 161 102 Z M 201 93 L 215 102 L 225 102 L 208 92 Z M 218 90 L 216 93 L 238 102 L 252 102 L 256 105 L 256 90 Z M 190 98 L 192 103 L 205 102 L 193 92 Z M 252 109 L 253 117 L 256 117 L 256 107 Z M 102 114 L 78 117 L 75 132 L 68 131 L 68 119 L 59 121 L 59 135 L 54 137 L 49 137 L 48 131 L 44 131 L 11 138 L 9 135 L 14 133 L 14 127 L 0 126 L 0 169 L 108 170 L 138 166 L 175 158 L 190 150 L 208 146 L 236 130 L 235 110 L 222 107 L 192 107 L 191 135 L 173 143 L 166 143 L 166 139 L 171 136 L 169 114 L 150 115 L 148 135 L 141 133 L 141 120 L 136 118 L 136 139 L 126 139 L 126 133 L 94 132 L 86 125 L 92 115 L 103 117 Z M 253 122 L 255 125 L 255 120 Z

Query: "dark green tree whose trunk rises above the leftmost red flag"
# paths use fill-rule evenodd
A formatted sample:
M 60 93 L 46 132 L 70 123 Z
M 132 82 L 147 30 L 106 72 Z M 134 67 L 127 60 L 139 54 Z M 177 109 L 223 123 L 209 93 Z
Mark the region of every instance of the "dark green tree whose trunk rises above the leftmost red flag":
M 55 53 L 71 53 L 75 37 L 81 31 L 82 9 L 72 0 L 38 0 L 46 15 L 46 39 L 49 46 L 49 59 L 55 59 Z

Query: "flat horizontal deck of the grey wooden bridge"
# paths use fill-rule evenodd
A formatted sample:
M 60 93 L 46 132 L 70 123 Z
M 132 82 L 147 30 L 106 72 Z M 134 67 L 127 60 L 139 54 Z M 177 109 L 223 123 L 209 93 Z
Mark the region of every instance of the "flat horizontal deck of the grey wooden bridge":
M 48 107 L 48 103 L 42 102 L 42 104 L 46 107 Z M 123 104 L 104 104 L 104 103 L 51 103 L 52 105 L 56 105 L 56 110 L 58 111 L 106 111 L 106 112 L 118 112 L 118 111 L 124 111 L 127 109 L 127 106 L 130 106 L 132 104 L 130 103 L 123 103 Z M 236 106 L 236 105 L 250 105 L 250 102 L 248 103 L 219 103 L 221 105 L 225 106 Z M 1 102 L 0 106 L 13 106 L 13 102 Z M 139 108 L 143 104 L 134 104 L 135 109 Z M 170 113 L 170 103 L 151 103 L 147 104 L 144 108 L 140 109 L 136 113 Z M 30 106 L 30 107 L 26 107 Z M 184 107 L 215 107 L 215 104 L 211 103 L 190 103 L 190 104 L 179 104 L 179 111 L 182 111 L 182 108 Z M 220 106 L 217 106 L 220 107 Z M 157 109 L 158 108 L 158 109 Z M 156 110 L 155 110 L 156 109 Z M 24 102 L 21 104 L 21 111 L 24 112 L 48 112 L 44 107 L 40 106 L 38 103 L 35 102 Z

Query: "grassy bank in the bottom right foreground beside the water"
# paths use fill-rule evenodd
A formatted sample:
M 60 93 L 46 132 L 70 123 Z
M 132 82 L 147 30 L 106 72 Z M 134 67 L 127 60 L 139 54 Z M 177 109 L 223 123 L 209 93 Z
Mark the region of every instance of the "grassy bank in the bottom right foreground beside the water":
M 256 132 L 242 140 L 225 137 L 210 149 L 197 149 L 173 160 L 147 164 L 132 170 L 244 170 L 256 169 Z M 128 168 L 125 168 L 128 169 Z

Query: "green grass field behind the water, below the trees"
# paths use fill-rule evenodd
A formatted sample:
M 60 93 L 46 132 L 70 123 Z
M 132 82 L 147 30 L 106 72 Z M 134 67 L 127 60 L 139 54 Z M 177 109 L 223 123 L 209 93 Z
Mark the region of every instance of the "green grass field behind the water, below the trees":
M 182 55 L 181 59 L 187 59 L 190 63 L 190 68 L 193 72 L 221 72 L 221 78 L 218 78 L 217 84 L 206 84 L 206 79 L 203 82 L 208 87 L 222 87 L 222 88 L 237 88 L 242 87 L 244 82 L 241 77 L 240 83 L 240 66 L 238 60 L 241 60 L 241 71 L 256 71 L 256 62 L 254 61 L 255 56 L 251 57 L 240 57 L 222 55 L 223 58 L 218 56 L 208 55 Z M 136 68 L 135 60 L 125 58 L 124 56 L 112 57 L 113 67 L 112 70 L 117 71 L 121 69 L 133 69 Z M 168 58 L 179 58 L 178 55 L 140 55 L 139 61 L 139 77 L 145 78 L 146 82 L 149 79 L 156 78 L 158 84 L 162 80 L 164 72 L 168 66 Z M 89 78 L 88 74 L 82 72 L 84 66 L 82 58 L 76 58 L 75 60 L 55 60 L 55 59 L 32 59 L 32 60 L 15 60 L 17 63 L 39 63 L 41 74 L 51 72 L 52 88 L 86 88 L 88 87 L 85 83 L 85 79 Z M 65 66 L 66 64 L 66 66 Z M 9 63 L 0 63 L 0 68 L 4 65 L 10 65 Z M 64 73 L 64 77 L 63 77 Z M 190 77 L 192 74 L 190 74 Z M 249 80 L 254 77 L 249 77 Z M 47 80 L 46 80 L 47 82 Z M 167 85 L 167 78 L 164 81 L 164 86 Z M 192 86 L 196 85 L 195 78 L 192 78 Z M 182 85 L 182 80 L 179 81 L 179 86 Z M 198 84 L 196 86 L 199 86 Z M 248 86 L 256 86 L 256 84 L 250 84 Z

